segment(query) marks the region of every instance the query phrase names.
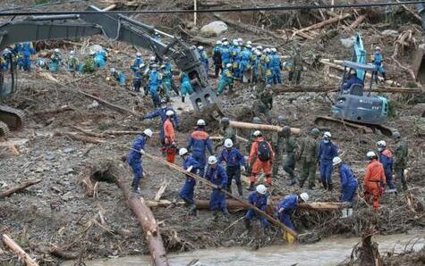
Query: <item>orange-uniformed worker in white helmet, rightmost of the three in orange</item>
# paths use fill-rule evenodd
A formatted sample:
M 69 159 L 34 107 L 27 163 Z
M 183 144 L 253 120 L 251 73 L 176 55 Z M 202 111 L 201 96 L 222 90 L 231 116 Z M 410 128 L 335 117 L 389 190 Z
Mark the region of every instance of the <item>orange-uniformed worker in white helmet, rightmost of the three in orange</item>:
M 364 176 L 364 199 L 369 202 L 370 196 L 373 195 L 373 208 L 378 210 L 381 187 L 387 184 L 387 180 L 384 167 L 382 163 L 378 162 L 378 155 L 374 152 L 369 152 L 366 156 L 370 159 L 370 162 Z

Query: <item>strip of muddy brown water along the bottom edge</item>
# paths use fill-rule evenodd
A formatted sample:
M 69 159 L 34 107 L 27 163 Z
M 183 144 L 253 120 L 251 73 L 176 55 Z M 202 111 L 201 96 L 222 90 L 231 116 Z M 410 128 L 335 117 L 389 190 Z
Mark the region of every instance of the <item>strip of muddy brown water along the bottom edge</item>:
M 425 245 L 425 232 L 414 232 L 408 235 L 378 236 L 373 238 L 379 244 L 379 251 L 403 252 L 406 245 L 420 250 Z M 272 245 L 258 251 L 250 251 L 242 247 L 198 250 L 183 254 L 168 254 L 171 265 L 185 266 L 193 259 L 198 259 L 196 265 L 336 265 L 344 261 L 352 252 L 353 245 L 360 238 L 327 238 L 312 245 Z M 72 262 L 63 265 L 72 265 Z M 87 266 L 132 266 L 150 265 L 149 256 L 132 256 L 107 260 L 86 262 Z

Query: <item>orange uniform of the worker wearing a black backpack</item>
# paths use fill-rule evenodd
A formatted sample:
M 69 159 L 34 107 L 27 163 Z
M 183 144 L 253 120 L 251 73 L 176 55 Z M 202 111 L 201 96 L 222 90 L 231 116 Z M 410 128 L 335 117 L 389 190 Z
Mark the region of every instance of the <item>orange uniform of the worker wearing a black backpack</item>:
M 250 157 L 248 158 L 248 162 L 252 165 L 250 181 L 251 184 L 256 183 L 259 171 L 263 170 L 264 174 L 266 175 L 266 184 L 271 185 L 271 166 L 273 163 L 273 159 L 275 158 L 275 153 L 273 152 L 272 146 L 268 142 L 266 142 L 270 152 L 269 158 L 265 162 L 259 160 L 259 143 L 263 141 L 266 142 L 263 137 L 257 137 L 257 139 L 252 143 L 251 146 L 251 153 Z

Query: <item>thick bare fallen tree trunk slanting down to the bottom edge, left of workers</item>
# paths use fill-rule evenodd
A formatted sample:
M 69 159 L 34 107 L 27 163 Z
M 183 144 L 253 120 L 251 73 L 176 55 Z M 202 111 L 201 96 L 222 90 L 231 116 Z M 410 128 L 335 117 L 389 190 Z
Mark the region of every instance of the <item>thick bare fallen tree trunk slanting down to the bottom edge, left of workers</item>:
M 162 241 L 157 220 L 150 211 L 149 206 L 145 204 L 142 197 L 129 196 L 129 187 L 121 179 L 116 179 L 115 183 L 123 191 L 123 195 L 127 203 L 129 204 L 132 212 L 136 216 L 137 220 L 143 232 L 145 233 L 146 240 L 149 244 L 149 253 L 152 257 L 152 263 L 156 266 L 167 266 L 168 260 L 166 259 L 166 248 Z

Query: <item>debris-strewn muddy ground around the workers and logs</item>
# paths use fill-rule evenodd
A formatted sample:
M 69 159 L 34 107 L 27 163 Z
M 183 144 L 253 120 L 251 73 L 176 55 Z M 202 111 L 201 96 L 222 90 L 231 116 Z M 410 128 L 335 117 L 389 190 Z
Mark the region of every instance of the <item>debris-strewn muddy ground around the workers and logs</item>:
M 26 1 L 21 1 L 23 4 Z M 97 1 L 93 1 L 97 2 Z M 163 8 L 190 8 L 191 1 L 175 1 L 174 4 L 156 1 L 146 1 L 142 8 L 163 9 Z M 255 2 L 255 1 L 252 1 Z M 278 1 L 269 1 L 270 4 Z M 297 1 L 303 4 L 306 1 Z M 191 2 L 192 3 L 192 2 Z M 228 6 L 244 6 L 246 3 L 232 1 Z M 225 5 L 225 6 L 227 6 Z M 225 7 L 224 6 L 224 7 Z M 68 5 L 67 8 L 81 9 L 81 4 Z M 51 9 L 60 10 L 59 7 Z M 362 12 L 362 11 L 361 11 Z M 318 12 L 315 12 L 319 15 Z M 317 18 L 304 12 L 290 12 L 281 14 L 294 18 L 307 26 L 317 22 Z M 265 12 L 264 15 L 242 14 L 226 15 L 234 21 L 254 23 L 255 21 L 269 20 L 266 26 L 269 29 L 277 30 L 285 27 L 299 27 L 287 25 L 289 20 L 280 21 L 276 13 Z M 400 10 L 397 21 L 406 16 Z M 297 20 L 298 17 L 298 20 Z M 137 16 L 141 19 L 140 16 Z M 159 18 L 153 16 L 143 17 L 144 21 L 164 29 L 168 32 L 178 30 L 178 26 L 190 24 L 190 15 L 162 15 Z M 215 20 L 212 15 L 201 15 L 200 24 Z M 393 54 L 393 44 L 399 33 L 404 30 L 412 30 L 416 45 L 420 43 L 423 34 L 416 21 L 403 20 L 400 23 L 383 24 L 382 13 L 379 11 L 370 12 L 370 18 L 357 30 L 363 37 L 365 47 L 369 54 L 374 46 L 381 46 L 385 57 L 387 76 L 404 85 L 412 84 L 412 80 L 407 71 L 401 71 L 396 63 L 390 59 Z M 353 21 L 353 20 L 348 20 Z M 403 22 L 403 23 L 402 23 Z M 259 25 L 260 26 L 260 25 Z M 314 85 L 326 82 L 324 78 L 325 68 L 323 65 L 314 63 L 314 56 L 322 58 L 350 59 L 351 49 L 341 45 L 340 38 L 350 37 L 353 32 L 346 32 L 340 29 L 341 24 L 329 26 L 314 40 L 289 40 L 276 39 L 273 37 L 253 36 L 250 32 L 238 31 L 229 28 L 225 36 L 243 37 L 244 40 L 260 39 L 257 42 L 277 46 L 281 54 L 288 54 L 294 46 L 301 46 L 304 56 L 309 57 L 311 64 L 307 64 L 307 71 L 303 73 L 302 84 Z M 396 34 L 385 35 L 384 30 L 395 30 Z M 331 32 L 331 34 L 329 33 Z M 190 39 L 188 39 L 191 42 Z M 255 42 L 255 41 L 254 41 Z M 125 44 L 109 43 L 101 37 L 91 37 L 79 42 L 87 44 L 100 43 L 110 49 L 110 61 L 108 67 L 115 66 L 123 68 L 129 66 L 135 53 L 132 46 Z M 81 46 L 73 43 L 52 43 L 61 46 L 64 54 L 72 48 L 80 51 Z M 197 44 L 197 43 L 194 43 Z M 412 54 L 415 44 L 409 43 L 397 60 L 402 62 L 407 68 L 411 67 Z M 116 51 L 121 51 L 117 53 Z M 148 59 L 149 53 L 144 52 L 144 58 Z M 331 70 L 331 72 L 334 72 Z M 152 110 L 150 99 L 141 94 L 136 95 L 129 89 L 118 87 L 114 82 L 106 81 L 107 71 L 97 71 L 87 79 L 69 84 L 72 80 L 82 76 L 72 77 L 67 72 L 54 73 L 52 76 L 58 79 L 60 86 L 55 81 L 49 80 L 40 70 L 31 73 L 20 74 L 20 89 L 15 95 L 7 100 L 5 104 L 24 110 L 26 113 L 25 126 L 20 131 L 14 131 L 13 138 L 28 138 L 25 145 L 18 146 L 20 154 L 13 156 L 7 149 L 1 147 L 0 150 L 0 181 L 3 188 L 13 187 L 26 179 L 42 179 L 42 182 L 34 187 L 30 187 L 25 192 L 15 194 L 6 199 L 0 200 L 0 230 L 12 236 L 22 247 L 32 256 L 38 259 L 41 265 L 56 265 L 64 260 L 49 254 L 52 247 L 64 249 L 68 254 L 79 257 L 81 261 L 98 257 L 125 256 L 130 254 L 147 254 L 148 246 L 143 238 L 143 232 L 132 212 L 128 209 L 123 200 L 122 192 L 115 184 L 105 182 L 98 183 L 96 197 L 88 197 L 85 190 L 80 186 L 81 175 L 87 170 L 89 165 L 110 160 L 115 163 L 115 174 L 120 178 L 130 182 L 132 172 L 128 166 L 121 161 L 123 155 L 128 153 L 134 136 L 115 136 L 102 139 L 104 142 L 98 145 L 83 144 L 68 137 L 55 136 L 55 132 L 75 132 L 72 126 L 94 132 L 105 130 L 140 130 L 152 128 L 159 130 L 159 122 L 140 121 L 132 115 L 115 112 L 104 105 L 89 108 L 92 100 L 75 93 L 75 89 L 81 89 L 89 94 L 103 98 L 111 103 L 133 109 L 135 103 L 140 103 L 142 113 Z M 335 71 L 335 74 L 341 72 Z M 127 71 L 130 77 L 130 72 Z M 216 87 L 217 80 L 211 79 L 211 85 Z M 330 80 L 335 84 L 335 80 Z M 130 86 L 129 86 L 130 87 Z M 252 95 L 255 87 L 249 85 L 238 85 L 234 95 L 221 96 L 221 104 L 225 114 L 233 119 L 250 121 Z M 332 94 L 329 94 L 333 98 Z M 294 215 L 296 228 L 300 233 L 310 233 L 304 237 L 304 242 L 317 241 L 321 237 L 332 235 L 361 236 L 364 229 L 374 228 L 380 234 L 394 234 L 408 232 L 410 229 L 422 229 L 425 227 L 425 216 L 423 204 L 425 203 L 424 171 L 425 164 L 422 155 L 424 153 L 424 138 L 417 135 L 415 123 L 418 115 L 413 112 L 414 106 L 410 104 L 414 96 L 386 95 L 392 100 L 395 106 L 395 115 L 387 121 L 387 125 L 398 129 L 410 146 L 409 157 L 409 192 L 413 195 L 413 204 L 408 206 L 404 192 L 398 195 L 385 195 L 380 215 L 373 212 L 369 205 L 361 199 L 358 200 L 357 208 L 350 219 L 341 220 L 339 212 L 297 212 Z M 174 101 L 179 101 L 178 97 Z M 176 104 L 176 102 L 174 103 Z M 61 106 L 69 105 L 72 111 L 58 113 L 43 113 L 48 110 L 55 110 Z M 291 126 L 302 129 L 302 135 L 309 132 L 314 127 L 316 115 L 329 114 L 330 101 L 324 94 L 285 94 L 275 96 L 273 116 L 284 113 Z M 201 117 L 200 114 L 183 112 L 180 114 L 183 127 L 177 134 L 178 145 L 186 144 L 189 134 L 193 129 L 195 121 Z M 211 135 L 217 135 L 217 122 L 208 121 L 208 131 Z M 344 129 L 341 126 L 330 126 L 334 142 L 340 148 L 343 160 L 348 162 L 359 179 L 362 179 L 362 172 L 366 162 L 364 154 L 374 147 L 375 143 L 384 139 L 394 146 L 394 141 L 383 136 L 379 132 L 370 134 L 359 134 L 351 129 Z M 239 130 L 242 137 L 246 137 L 249 132 Z M 157 137 L 153 137 L 147 145 L 146 151 L 149 154 L 160 156 L 160 145 Z M 177 162 L 180 164 L 180 160 Z M 178 200 L 178 191 L 183 185 L 183 176 L 175 171 L 168 170 L 157 162 L 144 159 L 146 178 L 141 183 L 141 195 L 145 199 L 153 199 L 163 180 L 171 180 L 162 198 L 168 200 Z M 297 166 L 297 171 L 299 167 Z M 312 201 L 332 201 L 339 200 L 339 181 L 334 176 L 336 189 L 332 193 L 324 192 L 317 188 L 307 191 Z M 280 170 L 280 177 L 274 180 L 276 195 L 287 195 L 293 192 L 301 192 L 297 187 L 287 187 L 287 176 Z M 396 180 L 396 185 L 400 182 Z M 362 188 L 359 195 L 362 195 Z M 207 199 L 209 197 L 208 187 L 198 186 L 196 197 Z M 248 194 L 244 192 L 245 196 Z M 168 252 L 183 252 L 191 249 L 208 248 L 212 246 L 234 246 L 243 245 L 251 248 L 259 246 L 284 244 L 278 230 L 273 229 L 267 236 L 260 233 L 259 225 L 255 223 L 254 230 L 259 234 L 247 235 L 240 220 L 243 212 L 232 212 L 228 222 L 212 220 L 211 212 L 201 211 L 198 217 L 187 215 L 184 207 L 158 208 L 153 212 L 160 222 L 161 233 L 166 242 Z M 101 218 L 102 217 L 102 218 Z M 102 226 L 93 220 L 105 220 Z M 229 227 L 232 225 L 231 227 Z M 4 246 L 0 245 L 0 264 L 17 263 L 13 254 L 10 254 Z

